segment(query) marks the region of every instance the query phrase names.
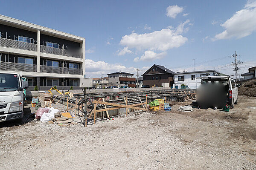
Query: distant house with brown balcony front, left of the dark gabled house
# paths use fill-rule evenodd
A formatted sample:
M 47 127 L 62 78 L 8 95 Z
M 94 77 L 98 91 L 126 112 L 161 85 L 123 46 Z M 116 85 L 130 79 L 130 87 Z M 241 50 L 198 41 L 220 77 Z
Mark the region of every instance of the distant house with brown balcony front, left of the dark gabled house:
M 113 72 L 108 74 L 108 83 L 118 86 L 128 85 L 129 87 L 135 87 L 136 79 L 133 76 L 134 74 L 127 72 Z

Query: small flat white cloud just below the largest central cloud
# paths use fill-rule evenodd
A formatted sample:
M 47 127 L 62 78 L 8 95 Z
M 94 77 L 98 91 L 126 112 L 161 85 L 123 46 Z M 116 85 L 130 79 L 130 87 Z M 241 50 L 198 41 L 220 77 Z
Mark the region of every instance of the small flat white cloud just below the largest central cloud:
M 134 62 L 153 61 L 153 60 L 161 59 L 164 56 L 166 56 L 166 52 L 161 52 L 161 53 L 157 54 L 156 52 L 153 52 L 153 51 L 145 51 L 141 57 L 134 58 Z

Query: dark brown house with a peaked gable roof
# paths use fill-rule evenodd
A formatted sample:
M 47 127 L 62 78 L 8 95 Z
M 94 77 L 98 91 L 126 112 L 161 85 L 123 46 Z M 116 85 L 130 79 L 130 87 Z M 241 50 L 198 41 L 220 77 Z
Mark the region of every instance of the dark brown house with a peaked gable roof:
M 174 73 L 164 66 L 154 64 L 142 75 L 143 84 L 150 87 L 162 87 L 162 83 L 169 83 L 169 86 L 172 87 Z

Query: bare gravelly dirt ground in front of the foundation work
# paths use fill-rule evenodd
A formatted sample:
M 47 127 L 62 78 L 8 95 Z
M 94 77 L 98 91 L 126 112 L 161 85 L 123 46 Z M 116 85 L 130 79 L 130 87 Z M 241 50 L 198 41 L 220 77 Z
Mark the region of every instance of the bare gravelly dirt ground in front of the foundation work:
M 27 106 L 21 125 L 0 124 L 1 169 L 256 169 L 255 97 L 230 112 L 181 105 L 88 127 L 34 121 Z

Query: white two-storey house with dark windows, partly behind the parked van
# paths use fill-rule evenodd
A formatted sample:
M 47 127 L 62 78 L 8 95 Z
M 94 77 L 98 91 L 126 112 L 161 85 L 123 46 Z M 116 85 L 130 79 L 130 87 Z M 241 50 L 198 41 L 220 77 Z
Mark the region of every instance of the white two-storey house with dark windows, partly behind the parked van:
M 200 86 L 200 80 L 197 77 L 219 75 L 220 73 L 215 70 L 204 70 L 194 72 L 177 72 L 174 74 L 174 88 L 181 89 L 181 84 L 185 84 L 190 89 L 197 89 Z

